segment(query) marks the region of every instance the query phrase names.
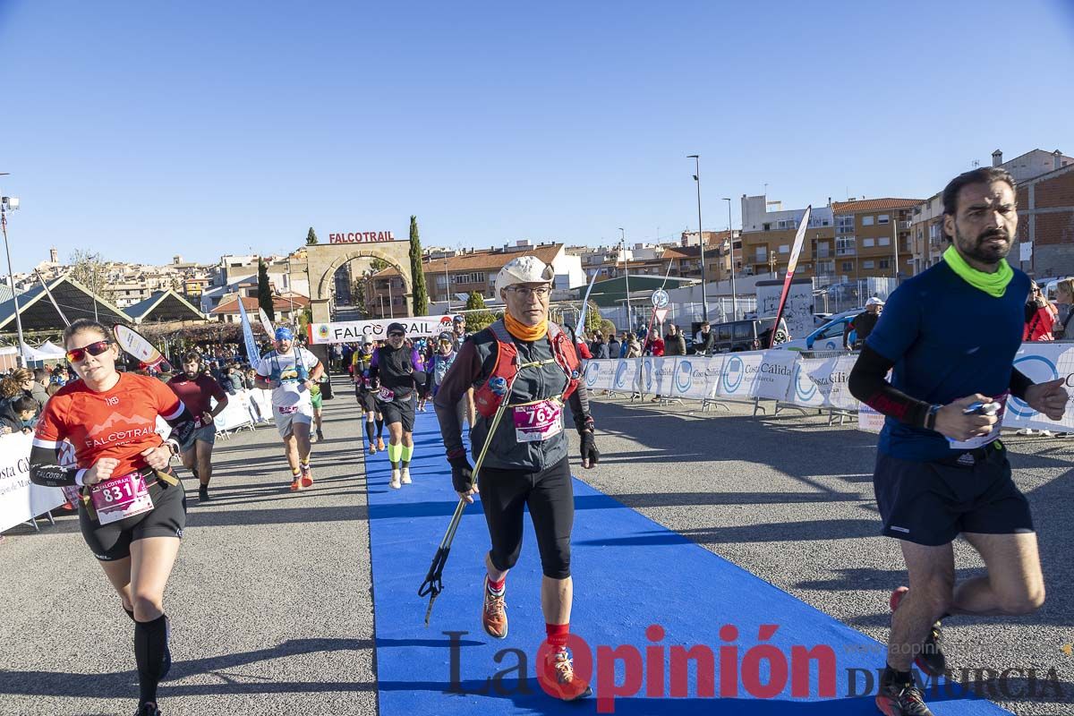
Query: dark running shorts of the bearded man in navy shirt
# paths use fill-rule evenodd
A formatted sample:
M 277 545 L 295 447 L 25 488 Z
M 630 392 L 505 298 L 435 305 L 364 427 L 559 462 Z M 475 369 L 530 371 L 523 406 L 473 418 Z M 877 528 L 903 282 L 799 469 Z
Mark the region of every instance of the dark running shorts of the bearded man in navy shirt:
M 964 453 L 961 461 L 915 463 L 880 453 L 873 489 L 883 534 L 937 546 L 960 532 L 1032 532 L 1029 502 L 1011 478 L 1002 443 Z

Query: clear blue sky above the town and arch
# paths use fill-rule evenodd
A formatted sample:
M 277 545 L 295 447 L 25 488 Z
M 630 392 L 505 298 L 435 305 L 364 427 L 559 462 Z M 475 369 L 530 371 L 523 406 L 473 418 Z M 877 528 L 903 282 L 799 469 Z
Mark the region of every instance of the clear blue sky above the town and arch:
M 690 154 L 706 229 L 766 182 L 928 196 L 1074 154 L 1072 4 L 0 0 L 12 257 L 668 238 Z

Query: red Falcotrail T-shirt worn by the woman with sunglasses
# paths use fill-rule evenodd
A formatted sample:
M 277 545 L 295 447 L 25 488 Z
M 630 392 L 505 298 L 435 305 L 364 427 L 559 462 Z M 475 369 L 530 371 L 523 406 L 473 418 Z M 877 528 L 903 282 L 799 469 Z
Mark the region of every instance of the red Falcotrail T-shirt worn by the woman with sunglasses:
M 179 397 L 156 378 L 119 374 L 111 390 L 97 393 L 76 380 L 59 390 L 38 422 L 33 444 L 55 449 L 67 439 L 74 445 L 78 467 L 89 468 L 102 457 L 119 461 L 114 474 L 145 467 L 140 454 L 163 443 L 157 415 L 174 420 L 183 414 Z

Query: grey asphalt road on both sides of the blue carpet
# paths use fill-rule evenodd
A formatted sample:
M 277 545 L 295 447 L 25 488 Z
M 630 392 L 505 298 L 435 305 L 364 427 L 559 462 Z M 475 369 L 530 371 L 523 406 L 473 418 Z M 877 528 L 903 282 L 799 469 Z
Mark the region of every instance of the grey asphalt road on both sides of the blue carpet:
M 346 390 L 325 404 L 314 489 L 286 488 L 275 428 L 219 441 L 215 498 L 198 503 L 169 586 L 168 716 L 375 714 L 371 565 L 361 424 Z M 875 437 L 797 411 L 753 419 L 745 406 L 701 413 L 594 401 L 595 470 L 582 479 L 702 547 L 884 641 L 887 596 L 903 583 L 897 544 L 877 536 Z M 1006 439 L 1036 520 L 1048 601 L 1017 618 L 953 618 L 958 669 L 1049 669 L 1035 698 L 992 695 L 1017 714 L 1074 714 L 1074 440 Z M 959 545 L 959 575 L 983 565 Z M 0 544 L 0 714 L 127 714 L 136 674 L 131 628 L 71 516 Z M 719 588 L 719 585 L 713 585 Z M 639 598 L 651 598 L 639 595 Z M 877 654 L 877 667 L 883 654 Z M 988 695 L 988 685 L 983 685 Z M 1015 693 L 1028 690 L 1012 680 Z M 669 704 L 669 707 L 671 704 Z M 673 711 L 668 711 L 673 713 Z

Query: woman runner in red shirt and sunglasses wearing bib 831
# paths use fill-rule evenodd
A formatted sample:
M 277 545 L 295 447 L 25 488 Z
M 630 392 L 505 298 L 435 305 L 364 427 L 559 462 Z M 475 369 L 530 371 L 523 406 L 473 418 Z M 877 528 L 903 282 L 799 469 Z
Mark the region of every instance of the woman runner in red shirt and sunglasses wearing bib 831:
M 140 699 L 135 716 L 159 716 L 157 684 L 171 667 L 164 586 L 186 526 L 183 485 L 169 464 L 193 439 L 194 419 L 168 385 L 116 370 L 108 328 L 86 319 L 63 332 L 67 359 L 82 380 L 45 406 L 30 452 L 30 480 L 77 485 L 83 539 L 134 620 Z M 172 427 L 166 441 L 157 417 Z M 61 443 L 77 467 L 60 465 Z

